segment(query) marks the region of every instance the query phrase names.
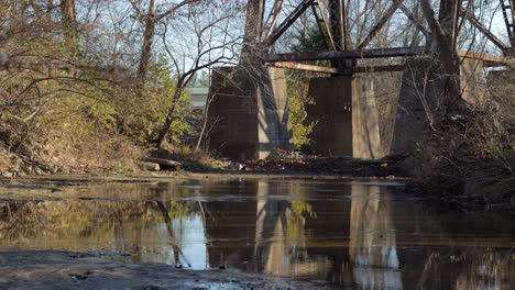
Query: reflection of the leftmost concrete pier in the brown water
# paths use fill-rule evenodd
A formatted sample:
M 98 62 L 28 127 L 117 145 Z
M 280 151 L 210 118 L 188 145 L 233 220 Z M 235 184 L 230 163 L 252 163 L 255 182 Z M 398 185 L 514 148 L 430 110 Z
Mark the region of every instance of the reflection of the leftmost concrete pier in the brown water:
M 320 259 L 313 259 L 308 253 L 307 234 L 317 241 L 324 239 L 330 234 L 327 228 L 332 225 L 341 225 L 341 219 L 322 220 L 310 219 L 315 207 L 302 200 L 302 186 L 297 181 L 260 180 L 248 182 L 243 187 L 246 194 L 255 194 L 255 200 L 239 202 L 237 208 L 227 202 L 210 202 L 209 211 L 215 213 L 212 219 L 207 219 L 207 235 L 212 242 L 208 246 L 209 261 L 211 266 L 230 265 L 249 271 L 266 272 L 280 276 L 296 276 L 299 272 L 316 272 L 320 268 L 330 268 L 325 249 L 320 248 Z M 249 192 L 252 190 L 252 192 Z M 228 194 L 232 194 L 227 192 Z M 310 194 L 310 192 L 307 192 Z M 245 194 L 245 196 L 246 196 Z M 294 200 L 289 200 L 295 198 Z M 314 202 L 316 203 L 316 202 Z M 320 202 L 318 208 L 332 214 L 344 214 L 339 205 L 327 208 L 327 203 Z M 223 212 L 223 215 L 217 214 Z M 315 223 L 320 226 L 316 228 Z M 324 224 L 324 226 L 321 226 Z M 309 228 L 309 230 L 308 230 Z M 339 231 L 335 226 L 331 231 Z M 307 233 L 306 231 L 309 231 Z M 343 233 L 341 233 L 343 234 Z M 231 237 L 239 237 L 232 246 Z M 242 246 L 242 237 L 245 246 Z M 219 242 L 217 239 L 220 239 Z M 245 263 L 248 263 L 245 265 Z M 325 265 L 325 266 L 322 266 Z M 327 272 L 327 271 L 322 271 Z M 325 277 L 324 277 L 325 278 Z

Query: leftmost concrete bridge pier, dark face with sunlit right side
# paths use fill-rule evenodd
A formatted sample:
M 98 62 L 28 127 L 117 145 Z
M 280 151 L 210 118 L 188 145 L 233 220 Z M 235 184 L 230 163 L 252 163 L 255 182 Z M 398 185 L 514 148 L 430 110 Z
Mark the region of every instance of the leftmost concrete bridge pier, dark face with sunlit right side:
M 242 161 L 293 149 L 284 69 L 216 68 L 208 102 L 210 150 Z

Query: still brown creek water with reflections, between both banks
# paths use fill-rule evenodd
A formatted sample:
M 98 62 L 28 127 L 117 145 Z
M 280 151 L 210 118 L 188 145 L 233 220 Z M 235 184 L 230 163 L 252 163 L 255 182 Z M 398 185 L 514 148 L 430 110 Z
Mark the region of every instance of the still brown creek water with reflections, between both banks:
M 309 179 L 76 186 L 0 202 L 0 250 L 94 252 L 337 289 L 515 289 L 512 217 L 460 213 L 399 189 Z

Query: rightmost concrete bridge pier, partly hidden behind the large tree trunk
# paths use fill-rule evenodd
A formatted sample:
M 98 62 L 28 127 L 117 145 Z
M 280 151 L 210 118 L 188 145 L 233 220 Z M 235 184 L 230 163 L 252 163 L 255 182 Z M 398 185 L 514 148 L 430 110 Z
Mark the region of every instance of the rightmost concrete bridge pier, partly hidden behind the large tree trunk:
M 487 96 L 484 62 L 462 58 L 460 85 L 465 102 L 483 105 Z M 408 62 L 402 76 L 390 154 L 414 150 L 432 136 L 430 120 L 445 98 L 443 87 L 439 66 L 425 58 Z

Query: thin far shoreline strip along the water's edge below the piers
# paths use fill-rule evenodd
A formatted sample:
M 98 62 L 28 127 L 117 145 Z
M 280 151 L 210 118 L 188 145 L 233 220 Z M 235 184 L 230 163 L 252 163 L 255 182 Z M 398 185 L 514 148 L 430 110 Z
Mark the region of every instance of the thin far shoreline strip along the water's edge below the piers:
M 392 182 L 399 183 L 405 188 L 406 194 L 413 194 L 414 197 L 421 198 L 430 202 L 447 203 L 450 207 L 460 211 L 505 211 L 511 214 L 515 214 L 515 203 L 508 201 L 487 201 L 483 196 L 473 194 L 437 194 L 435 192 L 429 193 L 426 189 L 419 185 L 412 183 L 413 179 L 409 177 L 372 177 L 372 176 L 352 176 L 352 175 L 338 175 L 335 172 L 299 172 L 299 171 L 262 171 L 262 170 L 212 170 L 194 172 L 186 170 L 178 171 L 160 171 L 150 172 L 142 171 L 135 175 L 119 175 L 119 174 L 48 174 L 48 175 L 33 175 L 24 177 L 12 177 L 4 178 L 0 177 L 0 185 L 36 185 L 37 183 L 58 183 L 57 187 L 78 186 L 84 183 L 97 183 L 97 182 L 166 182 L 177 181 L 187 179 L 199 179 L 199 180 L 229 180 L 229 179 L 263 179 L 263 178 L 281 178 L 281 179 L 311 179 L 311 180 L 341 180 L 341 181 L 361 181 L 361 182 Z M 402 183 L 402 185 L 401 185 Z M 31 189 L 31 188 L 29 188 Z M 20 190 L 24 190 L 20 188 Z M 0 200 L 2 197 L 0 189 Z

